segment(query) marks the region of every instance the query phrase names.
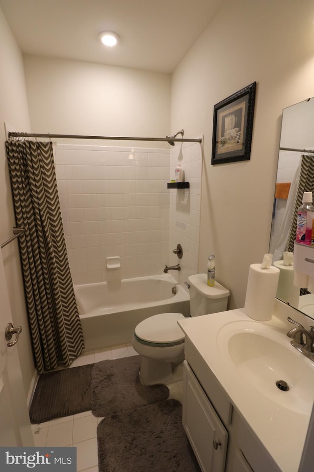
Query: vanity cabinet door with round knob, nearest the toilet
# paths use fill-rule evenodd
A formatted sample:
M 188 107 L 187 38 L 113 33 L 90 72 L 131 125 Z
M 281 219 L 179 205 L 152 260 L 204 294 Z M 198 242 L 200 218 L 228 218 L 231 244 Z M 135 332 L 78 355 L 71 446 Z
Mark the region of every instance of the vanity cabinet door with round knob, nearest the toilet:
M 228 432 L 186 361 L 183 366 L 183 427 L 202 471 L 223 472 Z

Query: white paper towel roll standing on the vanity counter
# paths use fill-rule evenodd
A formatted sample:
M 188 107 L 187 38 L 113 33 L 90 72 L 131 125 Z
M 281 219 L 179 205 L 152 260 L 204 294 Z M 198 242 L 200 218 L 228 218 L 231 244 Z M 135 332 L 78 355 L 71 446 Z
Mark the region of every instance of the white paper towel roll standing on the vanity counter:
M 244 311 L 253 320 L 271 320 L 279 274 L 278 267 L 270 266 L 269 269 L 261 269 L 261 264 L 250 266 Z

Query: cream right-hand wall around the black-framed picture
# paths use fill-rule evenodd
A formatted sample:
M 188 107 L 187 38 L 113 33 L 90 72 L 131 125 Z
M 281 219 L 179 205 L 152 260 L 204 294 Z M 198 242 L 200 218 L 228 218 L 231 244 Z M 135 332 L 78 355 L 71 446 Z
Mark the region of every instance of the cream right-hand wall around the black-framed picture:
M 268 252 L 282 109 L 314 95 L 311 0 L 227 1 L 172 77 L 171 129 L 204 134 L 200 259 L 216 255 L 229 308 Z M 257 82 L 251 159 L 211 165 L 213 107 Z

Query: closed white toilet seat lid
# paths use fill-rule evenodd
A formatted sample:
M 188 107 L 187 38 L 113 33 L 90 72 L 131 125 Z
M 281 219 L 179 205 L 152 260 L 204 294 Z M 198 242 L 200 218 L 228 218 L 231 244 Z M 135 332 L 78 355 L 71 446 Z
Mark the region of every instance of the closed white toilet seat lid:
M 184 318 L 182 313 L 159 313 L 139 323 L 135 334 L 151 343 L 176 343 L 184 340 L 184 333 L 177 324 Z

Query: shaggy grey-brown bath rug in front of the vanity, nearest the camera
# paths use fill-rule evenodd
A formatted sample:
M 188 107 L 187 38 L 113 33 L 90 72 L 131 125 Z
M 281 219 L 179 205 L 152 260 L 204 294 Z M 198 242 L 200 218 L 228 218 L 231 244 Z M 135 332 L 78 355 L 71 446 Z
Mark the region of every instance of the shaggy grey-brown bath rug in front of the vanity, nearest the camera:
M 104 418 L 97 441 L 99 472 L 200 472 L 178 400 Z

